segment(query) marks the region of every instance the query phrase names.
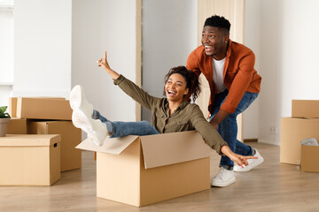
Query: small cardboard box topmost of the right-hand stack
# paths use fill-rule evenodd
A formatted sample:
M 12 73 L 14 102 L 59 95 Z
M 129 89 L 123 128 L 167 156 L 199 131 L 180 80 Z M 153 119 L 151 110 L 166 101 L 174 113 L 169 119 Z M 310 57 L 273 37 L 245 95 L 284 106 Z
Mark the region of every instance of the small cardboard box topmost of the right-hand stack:
M 292 100 L 292 117 L 319 117 L 319 100 Z

